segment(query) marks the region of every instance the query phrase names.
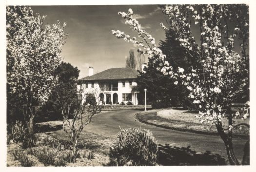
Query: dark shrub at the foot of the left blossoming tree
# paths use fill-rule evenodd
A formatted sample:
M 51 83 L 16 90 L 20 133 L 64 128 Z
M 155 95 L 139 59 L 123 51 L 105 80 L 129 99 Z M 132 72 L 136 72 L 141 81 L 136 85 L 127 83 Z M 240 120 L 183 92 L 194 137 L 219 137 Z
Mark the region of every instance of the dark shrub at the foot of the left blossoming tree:
M 16 121 L 12 128 L 14 142 L 20 142 L 23 148 L 31 148 L 36 145 L 36 134 L 30 134 L 21 121 Z

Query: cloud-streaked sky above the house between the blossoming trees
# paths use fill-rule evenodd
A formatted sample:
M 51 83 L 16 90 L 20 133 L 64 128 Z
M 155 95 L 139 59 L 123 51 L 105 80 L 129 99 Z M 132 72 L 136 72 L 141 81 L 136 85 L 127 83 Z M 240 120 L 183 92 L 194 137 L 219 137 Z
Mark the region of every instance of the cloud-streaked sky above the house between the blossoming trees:
M 63 61 L 71 63 L 80 70 L 79 78 L 88 76 L 89 66 L 94 74 L 109 68 L 125 67 L 125 57 L 129 50 L 137 48 L 131 42 L 125 42 L 112 35 L 111 30 L 124 31 L 135 36 L 118 12 L 133 9 L 144 29 L 158 44 L 165 39 L 164 30 L 159 23 L 165 17 L 157 5 L 83 5 L 83 6 L 32 6 L 34 13 L 46 15 L 45 22 L 54 24 L 59 20 L 66 22 L 67 42 L 62 48 Z

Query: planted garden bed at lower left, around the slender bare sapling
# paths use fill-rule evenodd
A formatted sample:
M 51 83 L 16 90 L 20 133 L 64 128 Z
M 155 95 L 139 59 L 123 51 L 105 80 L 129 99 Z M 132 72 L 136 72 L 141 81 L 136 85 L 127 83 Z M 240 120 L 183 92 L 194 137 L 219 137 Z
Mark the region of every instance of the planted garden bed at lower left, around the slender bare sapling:
M 28 149 L 19 143 L 7 145 L 7 166 L 106 166 L 112 138 L 82 131 L 75 163 L 68 161 L 71 142 L 61 129 L 61 121 L 37 124 L 37 144 Z M 66 157 L 63 159 L 63 157 Z M 25 163 L 21 163 L 25 161 Z

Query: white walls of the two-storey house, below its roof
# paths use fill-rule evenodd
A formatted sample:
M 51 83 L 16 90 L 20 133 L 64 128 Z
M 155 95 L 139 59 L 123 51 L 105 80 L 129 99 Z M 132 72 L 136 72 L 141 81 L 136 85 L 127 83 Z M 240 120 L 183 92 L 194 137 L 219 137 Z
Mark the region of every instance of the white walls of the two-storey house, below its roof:
M 131 80 L 130 80 L 131 81 Z M 111 82 L 111 81 L 107 81 Z M 114 81 L 113 81 L 114 82 Z M 116 82 L 116 81 L 115 81 Z M 122 82 L 125 82 L 125 87 L 123 87 Z M 136 86 L 137 82 L 132 81 L 132 86 Z M 104 101 L 106 102 L 106 94 L 111 94 L 111 101 L 113 103 L 113 95 L 114 93 L 118 94 L 118 102 L 119 104 L 122 102 L 122 94 L 132 94 L 132 103 L 134 105 L 138 105 L 138 99 L 136 96 L 136 93 L 131 93 L 132 92 L 132 86 L 130 87 L 129 80 L 118 80 L 118 91 L 101 91 L 99 88 L 99 82 L 95 81 L 94 82 L 94 88 L 92 88 L 92 82 L 88 81 L 88 88 L 86 88 L 86 84 L 81 85 L 83 88 L 83 94 L 82 94 L 82 103 L 85 101 L 85 94 L 95 94 L 97 101 L 99 102 L 99 94 L 103 93 L 104 94 Z M 80 86 L 78 86 L 78 89 Z M 126 104 L 128 101 L 124 101 Z M 101 103 L 101 102 L 99 102 Z

